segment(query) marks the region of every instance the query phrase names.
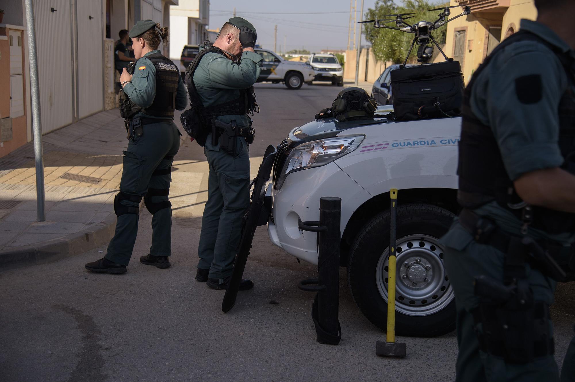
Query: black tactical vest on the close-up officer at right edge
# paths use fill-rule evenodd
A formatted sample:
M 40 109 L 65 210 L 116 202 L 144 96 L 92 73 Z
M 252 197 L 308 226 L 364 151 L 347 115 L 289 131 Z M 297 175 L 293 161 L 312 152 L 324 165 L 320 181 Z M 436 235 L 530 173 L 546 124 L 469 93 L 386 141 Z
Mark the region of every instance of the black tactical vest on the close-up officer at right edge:
M 513 188 L 513 182 L 505 171 L 499 146 L 489 126 L 484 125 L 471 112 L 471 89 L 478 75 L 489 64 L 492 57 L 513 42 L 537 41 L 550 48 L 559 58 L 570 81 L 568 90 L 559 103 L 559 149 L 564 162 L 562 169 L 575 174 L 575 85 L 574 65 L 567 54 L 555 46 L 527 31 L 520 31 L 505 39 L 493 50 L 474 73 L 463 96 L 461 141 L 459 142 L 459 191 L 458 202 L 465 208 L 478 208 L 491 201 L 497 203 L 517 217 L 521 209 L 512 209 L 510 205 L 521 202 Z M 513 112 L 510 110 L 509 112 Z M 546 126 L 540 126 L 546 128 Z M 554 211 L 543 207 L 533 207 L 531 227 L 542 229 L 551 234 L 575 231 L 575 214 Z

